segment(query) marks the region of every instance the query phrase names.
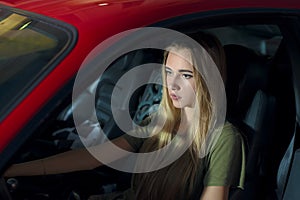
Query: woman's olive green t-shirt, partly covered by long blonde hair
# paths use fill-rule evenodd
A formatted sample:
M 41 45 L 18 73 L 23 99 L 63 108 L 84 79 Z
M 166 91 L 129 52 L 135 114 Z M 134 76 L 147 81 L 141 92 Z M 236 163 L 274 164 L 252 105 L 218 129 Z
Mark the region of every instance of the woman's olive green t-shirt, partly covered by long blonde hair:
M 146 141 L 146 139 L 132 137 L 130 135 L 124 135 L 123 137 L 136 152 L 139 151 Z M 183 156 L 185 156 L 185 154 L 183 154 Z M 201 164 L 199 165 L 197 181 L 194 186 L 195 194 L 193 194 L 192 199 L 199 199 L 203 188 L 206 186 L 243 188 L 246 162 L 245 146 L 241 134 L 232 124 L 226 123 L 224 125 L 211 151 L 199 162 Z M 176 164 L 176 162 L 174 163 Z M 133 197 L 136 187 L 135 184 L 133 190 L 126 192 L 130 194 L 130 197 L 124 197 L 125 199 L 135 199 Z

